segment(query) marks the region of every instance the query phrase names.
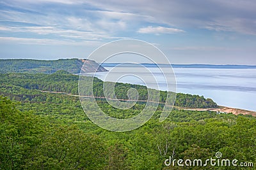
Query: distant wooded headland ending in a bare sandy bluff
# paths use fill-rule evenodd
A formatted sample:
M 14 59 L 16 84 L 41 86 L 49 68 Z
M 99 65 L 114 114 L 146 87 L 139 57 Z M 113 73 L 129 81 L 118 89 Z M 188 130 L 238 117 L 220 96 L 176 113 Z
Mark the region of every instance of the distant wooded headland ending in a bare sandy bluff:
M 55 73 L 58 70 L 78 74 L 84 62 L 84 72 L 108 71 L 93 60 L 59 59 L 59 60 L 30 60 L 30 59 L 0 59 L 0 73 Z

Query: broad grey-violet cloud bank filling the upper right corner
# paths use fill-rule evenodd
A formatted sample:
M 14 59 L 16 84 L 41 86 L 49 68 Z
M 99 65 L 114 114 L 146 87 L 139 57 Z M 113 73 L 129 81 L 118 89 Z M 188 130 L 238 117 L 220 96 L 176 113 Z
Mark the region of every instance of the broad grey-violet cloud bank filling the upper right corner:
M 144 21 L 151 24 L 256 34 L 256 3 L 254 0 L 172 0 L 164 1 L 164 3 L 154 0 L 109 0 L 108 2 L 99 0 L 87 3 L 108 11 L 147 16 Z

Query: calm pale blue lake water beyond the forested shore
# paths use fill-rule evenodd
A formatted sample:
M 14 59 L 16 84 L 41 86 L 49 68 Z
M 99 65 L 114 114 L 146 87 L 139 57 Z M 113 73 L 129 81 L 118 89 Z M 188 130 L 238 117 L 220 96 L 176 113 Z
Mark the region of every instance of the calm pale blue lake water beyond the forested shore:
M 106 67 L 112 75 L 126 75 L 118 79 L 118 82 L 145 85 L 140 76 L 146 77 L 147 82 L 151 81 L 151 73 L 145 71 L 145 69 L 120 67 L 115 73 L 115 71 L 111 71 L 112 68 Z M 166 82 L 161 71 L 157 67 L 148 67 L 147 69 L 154 74 L 158 82 L 158 87 L 150 88 L 166 90 Z M 198 94 L 211 98 L 221 106 L 256 111 L 256 69 L 175 67 L 173 71 L 177 81 L 177 92 Z M 109 72 L 97 73 L 95 76 L 101 80 L 116 81 L 116 78 L 113 78 L 113 80 L 109 79 L 109 76 L 107 76 Z M 137 76 L 132 76 L 131 74 L 136 74 Z

